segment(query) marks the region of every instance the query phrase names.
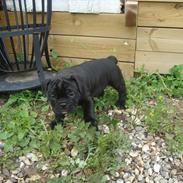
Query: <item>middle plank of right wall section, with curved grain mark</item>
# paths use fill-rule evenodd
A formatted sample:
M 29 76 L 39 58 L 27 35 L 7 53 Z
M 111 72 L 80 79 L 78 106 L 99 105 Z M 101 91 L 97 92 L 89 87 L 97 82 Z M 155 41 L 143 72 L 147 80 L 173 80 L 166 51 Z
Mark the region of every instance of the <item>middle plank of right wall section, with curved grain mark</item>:
M 183 29 L 138 27 L 137 50 L 183 53 Z

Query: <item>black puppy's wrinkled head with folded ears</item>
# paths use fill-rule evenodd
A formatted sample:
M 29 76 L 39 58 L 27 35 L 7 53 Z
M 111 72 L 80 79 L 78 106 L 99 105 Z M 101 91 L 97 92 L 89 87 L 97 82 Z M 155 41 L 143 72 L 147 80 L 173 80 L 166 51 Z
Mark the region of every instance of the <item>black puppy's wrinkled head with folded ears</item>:
M 71 112 L 78 105 L 80 89 L 78 82 L 72 76 L 46 80 L 45 90 L 56 115 Z

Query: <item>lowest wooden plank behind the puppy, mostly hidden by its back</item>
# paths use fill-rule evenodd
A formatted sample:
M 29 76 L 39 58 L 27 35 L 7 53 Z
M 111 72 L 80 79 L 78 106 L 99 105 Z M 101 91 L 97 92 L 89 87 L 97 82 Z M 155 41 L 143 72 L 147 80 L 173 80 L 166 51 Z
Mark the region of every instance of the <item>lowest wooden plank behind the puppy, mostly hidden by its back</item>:
M 54 65 L 56 65 L 56 67 L 58 69 L 59 67 L 63 68 L 63 63 L 77 65 L 77 64 L 81 64 L 85 61 L 89 61 L 89 59 L 61 57 L 60 61 L 54 62 Z M 134 64 L 133 63 L 118 62 L 118 65 L 119 65 L 120 69 L 122 70 L 122 73 L 123 73 L 125 79 L 130 79 L 133 77 L 133 74 L 134 74 Z

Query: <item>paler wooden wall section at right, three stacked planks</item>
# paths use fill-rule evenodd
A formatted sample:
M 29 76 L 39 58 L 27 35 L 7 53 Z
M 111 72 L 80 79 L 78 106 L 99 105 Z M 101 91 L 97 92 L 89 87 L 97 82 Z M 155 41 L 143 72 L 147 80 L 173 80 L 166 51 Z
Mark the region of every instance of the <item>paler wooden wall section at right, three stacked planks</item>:
M 140 0 L 135 68 L 167 73 L 183 64 L 183 1 Z

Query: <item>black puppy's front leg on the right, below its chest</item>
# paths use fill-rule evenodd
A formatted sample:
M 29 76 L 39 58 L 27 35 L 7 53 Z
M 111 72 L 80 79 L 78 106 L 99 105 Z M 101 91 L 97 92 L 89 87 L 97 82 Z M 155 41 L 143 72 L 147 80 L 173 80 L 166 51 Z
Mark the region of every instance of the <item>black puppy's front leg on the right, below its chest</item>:
M 83 110 L 85 122 L 91 122 L 91 125 L 98 129 L 94 112 L 94 102 L 92 97 L 89 97 L 83 101 Z

